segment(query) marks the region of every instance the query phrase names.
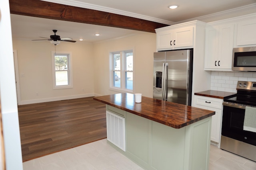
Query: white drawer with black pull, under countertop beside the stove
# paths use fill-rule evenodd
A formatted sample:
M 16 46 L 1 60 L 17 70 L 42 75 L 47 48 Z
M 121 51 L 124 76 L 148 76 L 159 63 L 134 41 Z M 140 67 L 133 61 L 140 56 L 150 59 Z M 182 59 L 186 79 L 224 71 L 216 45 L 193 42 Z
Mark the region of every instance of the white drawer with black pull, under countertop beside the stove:
M 222 99 L 195 95 L 195 104 L 222 109 Z

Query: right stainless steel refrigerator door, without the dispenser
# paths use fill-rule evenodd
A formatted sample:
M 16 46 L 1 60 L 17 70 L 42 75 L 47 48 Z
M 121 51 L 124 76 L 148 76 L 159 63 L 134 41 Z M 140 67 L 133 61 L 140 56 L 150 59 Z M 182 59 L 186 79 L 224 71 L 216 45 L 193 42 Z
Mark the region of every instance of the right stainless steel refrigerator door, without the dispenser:
M 166 52 L 167 101 L 188 105 L 190 50 Z

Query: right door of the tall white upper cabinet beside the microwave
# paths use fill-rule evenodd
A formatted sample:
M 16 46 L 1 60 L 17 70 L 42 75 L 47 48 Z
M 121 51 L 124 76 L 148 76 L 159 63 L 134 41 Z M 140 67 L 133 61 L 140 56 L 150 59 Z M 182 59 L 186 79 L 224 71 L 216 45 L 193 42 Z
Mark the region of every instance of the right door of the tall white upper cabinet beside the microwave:
M 218 68 L 231 70 L 233 41 L 234 24 L 220 25 L 218 41 Z

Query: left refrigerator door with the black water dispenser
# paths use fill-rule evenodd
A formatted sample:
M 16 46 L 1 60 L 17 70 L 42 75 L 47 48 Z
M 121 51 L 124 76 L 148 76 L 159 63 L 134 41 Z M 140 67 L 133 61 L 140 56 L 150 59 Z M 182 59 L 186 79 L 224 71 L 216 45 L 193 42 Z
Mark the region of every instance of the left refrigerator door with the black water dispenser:
M 163 100 L 165 53 L 154 53 L 153 98 Z

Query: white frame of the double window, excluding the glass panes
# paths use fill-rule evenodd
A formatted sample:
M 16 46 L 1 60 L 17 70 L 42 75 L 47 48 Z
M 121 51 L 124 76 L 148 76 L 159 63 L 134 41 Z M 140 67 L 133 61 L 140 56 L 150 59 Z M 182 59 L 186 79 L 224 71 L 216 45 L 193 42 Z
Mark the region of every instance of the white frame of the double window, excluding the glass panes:
M 132 57 L 132 71 L 126 68 L 126 53 L 133 53 Z M 120 54 L 120 88 L 114 86 L 114 72 L 119 71 L 114 69 L 114 55 Z M 134 91 L 134 50 L 124 50 L 124 51 L 114 51 L 110 52 L 110 90 L 118 91 L 118 92 L 130 92 Z M 126 88 L 126 72 L 132 72 L 133 80 L 132 80 L 132 90 Z

